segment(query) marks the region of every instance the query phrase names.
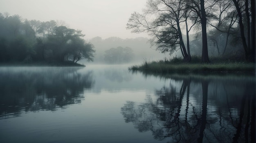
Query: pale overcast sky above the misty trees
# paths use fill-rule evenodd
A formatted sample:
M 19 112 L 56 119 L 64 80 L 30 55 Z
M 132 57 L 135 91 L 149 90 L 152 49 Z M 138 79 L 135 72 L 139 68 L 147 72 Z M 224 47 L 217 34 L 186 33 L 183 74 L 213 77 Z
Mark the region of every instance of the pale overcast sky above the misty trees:
M 82 30 L 85 39 L 99 36 L 135 38 L 126 23 L 134 12 L 145 8 L 146 0 L 0 0 L 0 13 L 18 14 L 28 20 L 58 20 Z

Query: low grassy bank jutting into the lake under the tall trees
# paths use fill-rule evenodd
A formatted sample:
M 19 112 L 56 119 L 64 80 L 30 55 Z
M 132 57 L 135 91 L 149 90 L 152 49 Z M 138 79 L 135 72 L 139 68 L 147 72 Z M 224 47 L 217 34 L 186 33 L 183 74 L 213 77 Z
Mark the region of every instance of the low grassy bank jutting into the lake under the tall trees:
M 255 73 L 254 63 L 172 63 L 166 61 L 144 61 L 141 65 L 129 67 L 129 70 L 156 73 L 208 73 L 208 72 L 249 72 Z

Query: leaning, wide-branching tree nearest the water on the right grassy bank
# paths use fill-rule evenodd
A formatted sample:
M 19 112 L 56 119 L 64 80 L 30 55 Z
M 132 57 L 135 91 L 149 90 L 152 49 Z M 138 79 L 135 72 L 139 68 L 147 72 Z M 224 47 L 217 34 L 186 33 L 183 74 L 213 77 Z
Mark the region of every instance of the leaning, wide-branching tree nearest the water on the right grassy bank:
M 148 32 L 153 36 L 151 42 L 156 43 L 157 50 L 163 53 L 173 53 L 180 47 L 184 61 L 191 61 L 189 47 L 186 50 L 180 26 L 188 20 L 187 10 L 184 0 L 149 0 L 143 14 L 135 12 L 131 15 L 127 28 L 136 33 Z M 152 20 L 152 17 L 155 19 Z

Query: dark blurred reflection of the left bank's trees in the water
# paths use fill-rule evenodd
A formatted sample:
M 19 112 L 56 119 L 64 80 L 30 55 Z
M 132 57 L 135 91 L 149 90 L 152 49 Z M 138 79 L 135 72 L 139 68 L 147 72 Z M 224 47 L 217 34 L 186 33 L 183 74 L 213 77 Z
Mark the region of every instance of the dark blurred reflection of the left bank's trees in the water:
M 83 90 L 94 85 L 92 71 L 79 67 L 1 67 L 0 119 L 22 112 L 65 108 L 81 103 Z

